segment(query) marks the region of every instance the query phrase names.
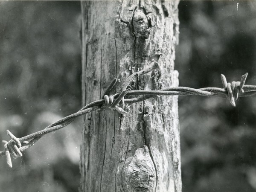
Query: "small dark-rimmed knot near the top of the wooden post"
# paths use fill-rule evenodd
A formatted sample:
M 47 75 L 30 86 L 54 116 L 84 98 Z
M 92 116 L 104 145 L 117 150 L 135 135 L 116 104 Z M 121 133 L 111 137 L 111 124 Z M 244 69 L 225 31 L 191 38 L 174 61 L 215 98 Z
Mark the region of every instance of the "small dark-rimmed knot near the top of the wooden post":
M 136 38 L 148 38 L 150 28 L 148 18 L 144 14 L 143 9 L 136 9 L 132 20 L 133 33 Z

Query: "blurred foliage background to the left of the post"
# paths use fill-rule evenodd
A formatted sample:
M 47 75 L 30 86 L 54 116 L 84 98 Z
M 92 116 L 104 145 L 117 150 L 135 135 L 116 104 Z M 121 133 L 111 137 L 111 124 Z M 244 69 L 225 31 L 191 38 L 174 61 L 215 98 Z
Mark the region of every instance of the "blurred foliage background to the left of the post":
M 81 107 L 79 1 L 0 1 L 0 139 L 45 128 Z M 78 121 L 13 160 L 0 191 L 70 192 L 79 186 Z

